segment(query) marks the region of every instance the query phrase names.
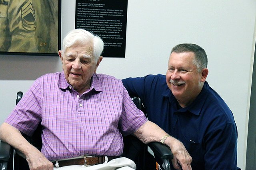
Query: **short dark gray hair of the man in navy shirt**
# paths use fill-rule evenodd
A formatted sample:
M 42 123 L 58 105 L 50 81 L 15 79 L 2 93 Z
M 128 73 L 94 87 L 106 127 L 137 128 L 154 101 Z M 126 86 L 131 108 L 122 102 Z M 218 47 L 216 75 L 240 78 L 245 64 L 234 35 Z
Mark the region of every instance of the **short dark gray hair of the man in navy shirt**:
M 202 47 L 196 44 L 179 44 L 172 48 L 172 52 L 175 53 L 184 53 L 184 52 L 193 52 L 195 57 L 193 59 L 193 63 L 195 64 L 197 71 L 201 72 L 202 69 L 207 68 L 208 60 L 207 55 L 202 49 Z

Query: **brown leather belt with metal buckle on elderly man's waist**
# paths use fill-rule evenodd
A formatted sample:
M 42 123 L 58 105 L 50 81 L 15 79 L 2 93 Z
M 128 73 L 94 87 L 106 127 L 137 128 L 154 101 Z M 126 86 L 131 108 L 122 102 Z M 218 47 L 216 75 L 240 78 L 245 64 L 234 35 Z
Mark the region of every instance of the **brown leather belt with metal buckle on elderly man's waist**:
M 108 157 L 108 161 L 118 158 L 116 156 L 107 156 L 107 157 Z M 105 162 L 105 156 L 90 156 L 90 155 L 85 155 L 83 158 L 52 161 L 53 166 L 55 168 L 62 167 L 62 166 L 69 166 L 69 165 L 90 166 L 90 165 L 103 164 L 104 162 Z

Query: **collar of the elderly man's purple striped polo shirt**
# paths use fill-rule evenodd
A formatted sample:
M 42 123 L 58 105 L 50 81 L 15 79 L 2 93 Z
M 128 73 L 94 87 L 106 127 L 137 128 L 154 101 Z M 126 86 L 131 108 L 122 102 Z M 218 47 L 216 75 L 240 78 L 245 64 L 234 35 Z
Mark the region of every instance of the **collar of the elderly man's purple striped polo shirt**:
M 70 84 L 68 84 L 68 82 L 64 76 L 64 72 L 62 71 L 60 73 L 60 78 L 59 78 L 59 88 L 64 90 L 64 89 L 69 88 L 69 86 L 70 86 Z M 98 91 L 98 92 L 102 92 L 102 86 L 101 86 L 101 83 L 100 83 L 100 80 L 99 80 L 97 74 L 92 75 L 91 87 L 90 87 L 90 89 L 88 89 L 86 91 L 86 93 L 91 91 L 92 89 L 94 89 L 95 91 Z

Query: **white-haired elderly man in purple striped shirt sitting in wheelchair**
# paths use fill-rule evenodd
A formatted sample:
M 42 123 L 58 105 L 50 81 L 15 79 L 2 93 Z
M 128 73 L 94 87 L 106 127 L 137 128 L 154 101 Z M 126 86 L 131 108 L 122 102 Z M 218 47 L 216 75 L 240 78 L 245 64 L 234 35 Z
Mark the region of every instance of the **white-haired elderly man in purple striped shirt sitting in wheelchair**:
M 0 127 L 0 140 L 26 158 L 31 170 L 135 169 L 123 152 L 122 135 L 134 134 L 144 143 L 162 141 L 174 154 L 177 169 L 191 170 L 184 145 L 147 121 L 121 80 L 96 74 L 103 41 L 86 30 L 74 29 L 63 40 L 59 56 L 63 72 L 38 78 Z M 41 152 L 21 133 L 32 135 L 42 125 Z M 82 166 L 86 158 L 94 166 Z M 82 156 L 82 158 L 81 158 Z M 63 166 L 63 167 L 62 167 Z

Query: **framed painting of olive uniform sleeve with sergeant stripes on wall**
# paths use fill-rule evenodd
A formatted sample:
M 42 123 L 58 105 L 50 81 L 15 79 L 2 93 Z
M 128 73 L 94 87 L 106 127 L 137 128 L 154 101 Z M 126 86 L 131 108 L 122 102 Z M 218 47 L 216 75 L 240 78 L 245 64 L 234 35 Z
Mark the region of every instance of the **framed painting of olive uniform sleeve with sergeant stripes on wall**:
M 61 0 L 0 0 L 0 54 L 58 56 Z

